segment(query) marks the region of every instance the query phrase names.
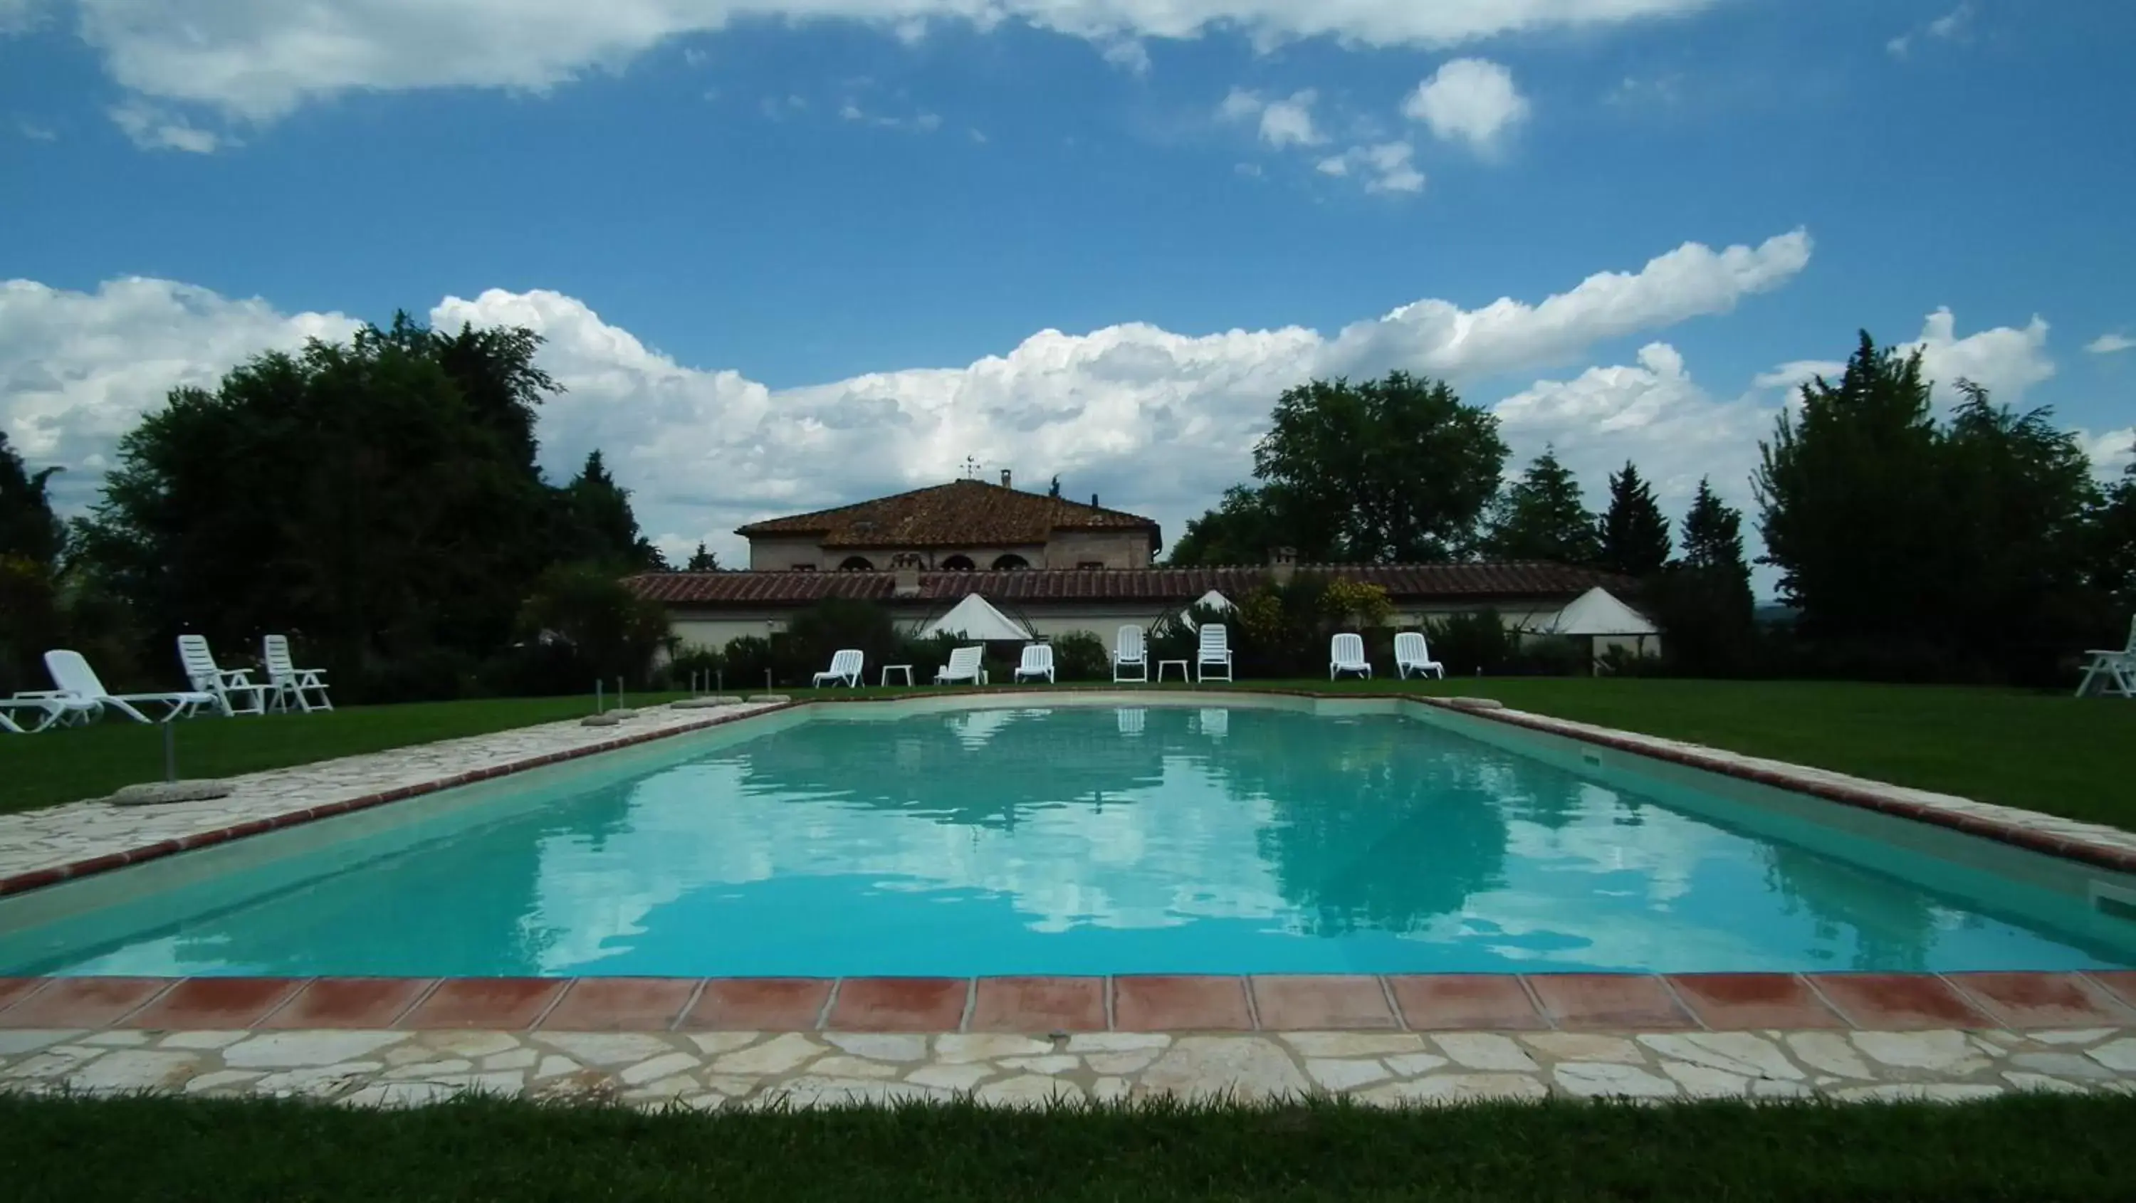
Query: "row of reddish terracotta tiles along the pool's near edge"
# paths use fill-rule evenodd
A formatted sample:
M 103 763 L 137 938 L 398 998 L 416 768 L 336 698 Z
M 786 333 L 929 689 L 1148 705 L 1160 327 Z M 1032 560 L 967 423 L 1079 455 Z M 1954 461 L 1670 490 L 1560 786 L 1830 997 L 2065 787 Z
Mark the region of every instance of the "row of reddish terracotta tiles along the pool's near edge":
M 1954 974 L 32 977 L 0 1030 L 1696 1032 L 2136 1026 L 2136 970 Z

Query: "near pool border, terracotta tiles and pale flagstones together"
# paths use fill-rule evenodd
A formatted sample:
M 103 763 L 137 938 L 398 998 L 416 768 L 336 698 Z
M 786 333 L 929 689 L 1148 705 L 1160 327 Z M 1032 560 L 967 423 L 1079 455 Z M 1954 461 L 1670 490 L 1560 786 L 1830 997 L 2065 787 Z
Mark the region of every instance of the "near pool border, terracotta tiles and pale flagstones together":
M 630 1105 L 2136 1092 L 2136 974 L 13 979 L 0 1090 Z

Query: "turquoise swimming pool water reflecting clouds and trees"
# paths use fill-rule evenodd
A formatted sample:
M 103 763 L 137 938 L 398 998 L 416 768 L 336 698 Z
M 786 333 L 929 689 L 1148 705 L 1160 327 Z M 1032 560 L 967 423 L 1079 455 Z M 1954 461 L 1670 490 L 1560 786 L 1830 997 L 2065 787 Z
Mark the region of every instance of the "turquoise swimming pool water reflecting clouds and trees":
M 1440 720 L 835 707 L 767 722 L 11 900 L 0 972 L 2136 964 L 2136 923 L 2089 900 L 2080 865 L 1576 752 L 1561 767 Z

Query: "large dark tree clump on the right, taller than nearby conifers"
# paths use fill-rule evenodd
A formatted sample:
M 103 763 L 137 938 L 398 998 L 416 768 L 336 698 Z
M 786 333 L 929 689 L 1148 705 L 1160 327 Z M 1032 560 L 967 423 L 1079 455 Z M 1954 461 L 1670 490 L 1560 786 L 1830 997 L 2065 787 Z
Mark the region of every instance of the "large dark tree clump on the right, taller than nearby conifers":
M 1863 333 L 1839 380 L 1803 387 L 1760 447 L 1766 560 L 1805 637 L 1920 671 L 2044 679 L 2102 624 L 2100 496 L 2048 410 L 1957 380 L 1937 421 L 1920 353 Z

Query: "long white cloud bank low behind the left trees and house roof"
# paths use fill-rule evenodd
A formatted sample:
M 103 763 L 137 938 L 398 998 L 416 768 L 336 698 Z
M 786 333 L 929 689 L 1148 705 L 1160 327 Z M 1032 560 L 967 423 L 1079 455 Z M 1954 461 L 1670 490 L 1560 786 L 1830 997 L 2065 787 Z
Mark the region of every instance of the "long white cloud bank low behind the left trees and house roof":
M 961 368 L 797 389 L 679 363 L 553 291 L 446 297 L 429 316 L 440 327 L 543 333 L 540 363 L 568 389 L 540 412 L 545 468 L 566 474 L 598 447 L 669 551 L 709 538 L 733 556 L 728 532 L 743 521 L 946 481 L 968 455 L 1034 485 L 1059 472 L 1072 496 L 1096 491 L 1177 534 L 1247 476 L 1269 408 L 1292 385 L 1391 368 L 1457 382 L 1532 372 L 1606 338 L 1728 312 L 1790 280 L 1807 259 L 1801 231 L 1724 250 L 1685 244 L 1638 271 L 1596 274 L 1536 303 L 1463 310 L 1427 299 L 1335 335 L 1305 327 L 1188 335 L 1141 323 L 1079 335 L 1045 329 Z M 81 504 L 117 436 L 173 385 L 211 385 L 258 350 L 352 327 L 344 314 L 280 314 L 258 299 L 167 280 L 115 280 L 94 293 L 9 282 L 0 286 L 0 429 L 32 464 L 66 466 L 62 500 Z M 1668 355 L 1651 350 L 1630 372 L 1672 387 L 1681 361 Z M 1585 376 L 1566 385 L 1591 387 Z M 1564 444 L 1593 423 L 1583 404 L 1591 402 L 1564 393 L 1510 412 L 1540 415 L 1521 419 L 1523 438 Z M 1643 427 L 1640 412 L 1630 406 L 1611 436 L 1625 447 L 1640 442 L 1640 429 L 1685 438 L 1668 415 Z

